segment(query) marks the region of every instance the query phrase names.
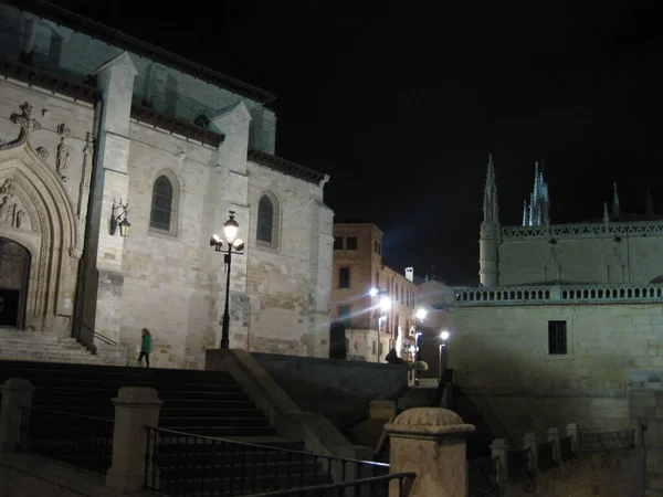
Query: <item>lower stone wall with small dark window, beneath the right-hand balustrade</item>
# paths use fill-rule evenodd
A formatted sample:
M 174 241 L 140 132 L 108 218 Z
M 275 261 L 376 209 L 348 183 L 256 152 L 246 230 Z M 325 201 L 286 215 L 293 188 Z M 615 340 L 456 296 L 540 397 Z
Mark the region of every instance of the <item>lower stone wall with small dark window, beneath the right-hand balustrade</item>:
M 567 321 L 567 355 L 548 353 L 548 321 Z M 575 420 L 629 422 L 627 370 L 663 363 L 659 304 L 452 307 L 449 367 L 487 398 L 512 436 Z

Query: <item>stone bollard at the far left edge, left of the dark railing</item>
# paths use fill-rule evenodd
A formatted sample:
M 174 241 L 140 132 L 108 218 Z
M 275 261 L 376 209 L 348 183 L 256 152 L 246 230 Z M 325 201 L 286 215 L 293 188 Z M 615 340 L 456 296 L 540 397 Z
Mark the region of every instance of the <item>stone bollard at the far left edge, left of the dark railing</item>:
M 0 453 L 14 452 L 21 440 L 22 408 L 32 406 L 34 387 L 28 380 L 12 378 L 0 387 Z

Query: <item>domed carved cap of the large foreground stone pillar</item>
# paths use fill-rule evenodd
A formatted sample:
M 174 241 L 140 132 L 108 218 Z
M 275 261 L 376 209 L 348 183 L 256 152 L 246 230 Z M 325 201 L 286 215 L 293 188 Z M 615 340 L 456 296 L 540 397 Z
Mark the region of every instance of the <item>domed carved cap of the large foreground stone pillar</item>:
M 460 435 L 472 433 L 474 426 L 448 409 L 414 408 L 400 413 L 385 430 L 390 434 Z

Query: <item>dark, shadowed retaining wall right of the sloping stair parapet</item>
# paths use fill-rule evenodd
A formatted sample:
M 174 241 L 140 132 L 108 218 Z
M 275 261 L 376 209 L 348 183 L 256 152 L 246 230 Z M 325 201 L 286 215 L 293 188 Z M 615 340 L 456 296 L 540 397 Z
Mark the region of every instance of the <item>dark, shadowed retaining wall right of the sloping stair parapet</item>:
M 368 417 L 371 400 L 393 400 L 408 388 L 404 364 L 252 353 L 303 411 L 345 427 Z

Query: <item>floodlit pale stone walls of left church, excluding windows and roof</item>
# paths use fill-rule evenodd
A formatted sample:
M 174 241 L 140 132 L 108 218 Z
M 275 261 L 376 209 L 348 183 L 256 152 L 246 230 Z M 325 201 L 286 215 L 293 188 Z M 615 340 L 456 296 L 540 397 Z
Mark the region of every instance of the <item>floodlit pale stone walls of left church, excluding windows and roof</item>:
M 11 10 L 1 9 L 2 14 Z M 0 17 L 0 24 L 11 18 Z M 67 40 L 77 39 L 74 33 Z M 97 42 L 87 40 L 94 51 Z M 11 80 L 0 83 L 2 142 L 19 135 L 21 128 L 11 116 L 21 115 L 24 102 L 32 104 L 31 118 L 42 125 L 27 140 L 25 154 L 0 144 L 0 180 L 17 167 L 39 166 L 50 183 L 35 191 L 60 194 L 34 207 L 34 216 L 27 218 L 32 224 L 0 226 L 0 236 L 29 248 L 33 267 L 40 268 L 28 286 L 36 295 L 28 300 L 36 309 L 28 325 L 59 335 L 75 328 L 74 335 L 90 347 L 95 347 L 94 330 L 118 342 L 126 363 L 135 360 L 140 329 L 147 327 L 154 334 L 155 367 L 202 368 L 204 350 L 220 341 L 225 298 L 223 254 L 210 247 L 209 239 L 222 235 L 232 210 L 246 247 L 232 260 L 231 347 L 326 357 L 333 222 L 323 199 L 326 180 L 305 181 L 249 162 L 249 101 L 212 121 L 225 136 L 218 149 L 131 118 L 134 83 L 144 70 L 138 59 L 125 52 L 95 67 L 104 99 L 96 108 Z M 95 120 L 98 129 L 93 129 Z M 61 124 L 70 130 L 66 179 L 55 171 Z M 94 152 L 85 155 L 88 133 Z M 262 139 L 266 144 L 267 138 Z M 82 189 L 85 157 L 94 171 L 88 188 Z M 162 175 L 173 186 L 172 222 L 169 230 L 155 230 L 149 225 L 152 188 Z M 266 192 L 277 203 L 272 246 L 259 245 L 255 235 L 259 199 Z M 78 209 L 81 199 L 84 205 Z M 127 237 L 109 232 L 112 215 L 119 213 L 113 207 L 120 201 L 128 204 Z M 39 215 L 63 225 L 50 225 L 48 232 L 28 230 Z M 42 240 L 59 245 L 43 245 Z M 85 272 L 78 278 L 83 241 Z M 45 256 L 50 258 L 43 262 Z M 81 300 L 74 303 L 76 295 Z

